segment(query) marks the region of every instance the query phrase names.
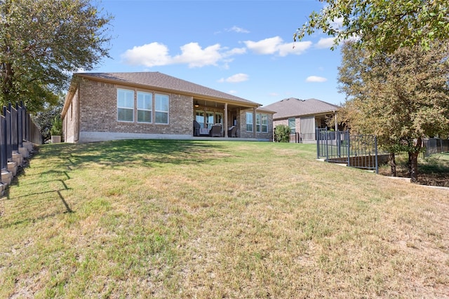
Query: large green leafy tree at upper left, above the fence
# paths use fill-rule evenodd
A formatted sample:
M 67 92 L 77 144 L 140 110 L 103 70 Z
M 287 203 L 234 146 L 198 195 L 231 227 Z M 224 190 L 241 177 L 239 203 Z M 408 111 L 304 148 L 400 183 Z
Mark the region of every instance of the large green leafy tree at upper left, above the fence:
M 89 0 L 0 0 L 0 104 L 55 104 L 73 71 L 108 55 L 110 20 Z

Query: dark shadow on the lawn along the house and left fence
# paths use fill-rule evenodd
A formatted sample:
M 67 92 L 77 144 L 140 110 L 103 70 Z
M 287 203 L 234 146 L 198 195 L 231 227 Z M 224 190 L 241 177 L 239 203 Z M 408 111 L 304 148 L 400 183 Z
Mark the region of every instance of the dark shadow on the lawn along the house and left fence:
M 15 215 L 4 218 L 0 227 L 34 222 L 62 213 L 74 211 L 64 197 L 70 190 L 69 172 L 79 167 L 96 164 L 103 167 L 163 167 L 163 165 L 189 165 L 213 160 L 220 143 L 207 141 L 174 140 L 121 140 L 91 144 L 48 144 L 39 148 L 39 159 L 32 159 L 13 179 L 1 200 L 10 201 Z M 225 149 L 226 151 L 226 149 Z M 21 176 L 27 179 L 21 182 Z M 11 197 L 10 188 L 20 187 L 16 198 Z M 51 203 L 52 202 L 52 203 Z M 59 203 L 61 204 L 59 204 Z M 33 211 L 35 210 L 35 211 Z M 30 215 L 36 215 L 32 217 Z

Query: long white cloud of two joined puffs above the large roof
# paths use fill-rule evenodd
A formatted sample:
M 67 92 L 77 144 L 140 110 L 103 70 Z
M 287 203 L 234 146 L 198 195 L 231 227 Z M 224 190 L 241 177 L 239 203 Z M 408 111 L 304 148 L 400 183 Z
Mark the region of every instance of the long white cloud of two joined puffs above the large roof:
M 246 53 L 246 48 L 228 48 L 216 43 L 213 46 L 201 48 L 198 43 L 187 43 L 180 47 L 179 55 L 170 56 L 167 46 L 161 43 L 149 43 L 143 46 L 135 46 L 126 50 L 121 58 L 126 64 L 156 67 L 168 64 L 188 64 L 189 67 L 205 67 L 217 65 L 220 62 L 226 64 L 232 61 L 232 56 Z

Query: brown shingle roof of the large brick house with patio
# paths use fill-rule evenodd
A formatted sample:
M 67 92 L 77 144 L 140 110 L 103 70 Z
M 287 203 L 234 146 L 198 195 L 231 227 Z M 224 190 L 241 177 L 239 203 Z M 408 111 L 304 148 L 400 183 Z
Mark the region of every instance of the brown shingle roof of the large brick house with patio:
M 159 71 L 132 72 L 132 73 L 78 73 L 82 77 L 94 77 L 105 81 L 114 81 L 123 84 L 142 85 L 150 88 L 162 88 L 178 93 L 185 93 L 193 96 L 211 97 L 239 104 L 249 104 L 250 106 L 261 106 L 255 102 L 229 95 L 226 92 L 206 88 L 189 81 L 162 74 Z

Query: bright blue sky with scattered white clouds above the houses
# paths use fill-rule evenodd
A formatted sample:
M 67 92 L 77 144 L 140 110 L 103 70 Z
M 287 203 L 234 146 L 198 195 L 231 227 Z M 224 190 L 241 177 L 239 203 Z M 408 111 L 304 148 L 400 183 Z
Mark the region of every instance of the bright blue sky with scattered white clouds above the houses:
M 288 97 L 344 102 L 340 49 L 324 34 L 293 43 L 317 0 L 102 0 L 114 15 L 95 72 L 160 71 L 262 105 Z

